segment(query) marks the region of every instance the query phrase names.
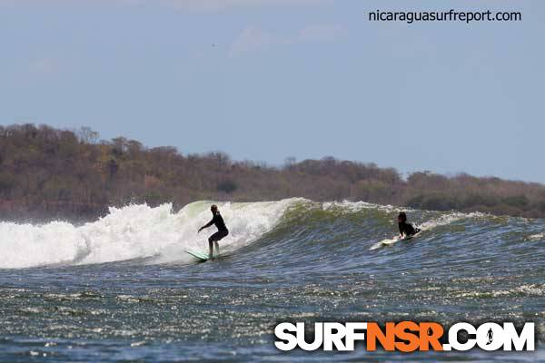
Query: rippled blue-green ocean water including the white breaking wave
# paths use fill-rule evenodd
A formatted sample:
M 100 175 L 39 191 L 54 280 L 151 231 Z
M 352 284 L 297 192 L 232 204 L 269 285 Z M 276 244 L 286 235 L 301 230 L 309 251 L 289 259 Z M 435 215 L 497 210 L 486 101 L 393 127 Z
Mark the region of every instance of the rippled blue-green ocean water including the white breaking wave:
M 0 222 L 0 361 L 545 361 L 545 221 L 400 208 L 216 202 L 230 234 L 198 263 L 212 201 L 97 221 Z M 281 321 L 534 322 L 533 352 L 282 352 Z

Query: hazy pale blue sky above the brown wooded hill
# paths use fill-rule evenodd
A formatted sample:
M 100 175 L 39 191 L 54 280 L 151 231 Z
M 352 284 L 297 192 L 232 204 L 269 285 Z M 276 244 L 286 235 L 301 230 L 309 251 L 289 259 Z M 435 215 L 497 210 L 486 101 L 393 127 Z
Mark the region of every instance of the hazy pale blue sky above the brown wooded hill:
M 520 22 L 370 22 L 370 11 Z M 545 2 L 0 0 L 0 123 L 545 182 Z

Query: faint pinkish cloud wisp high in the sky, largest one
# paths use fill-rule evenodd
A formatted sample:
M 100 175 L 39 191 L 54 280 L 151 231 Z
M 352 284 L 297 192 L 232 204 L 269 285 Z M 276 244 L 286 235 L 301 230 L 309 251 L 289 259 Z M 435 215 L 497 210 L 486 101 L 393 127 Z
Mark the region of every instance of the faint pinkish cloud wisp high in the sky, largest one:
M 236 37 L 230 46 L 229 54 L 233 56 L 279 44 L 332 42 L 346 33 L 339 25 L 309 25 L 294 35 L 281 36 L 252 25 Z

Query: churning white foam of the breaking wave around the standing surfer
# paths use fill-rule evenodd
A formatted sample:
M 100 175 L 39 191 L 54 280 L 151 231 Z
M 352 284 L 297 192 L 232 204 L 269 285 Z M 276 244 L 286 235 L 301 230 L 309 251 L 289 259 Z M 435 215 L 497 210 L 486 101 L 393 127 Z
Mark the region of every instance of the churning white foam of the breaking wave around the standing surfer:
M 294 202 L 216 202 L 230 234 L 223 250 L 236 250 L 257 239 L 280 221 Z M 215 227 L 197 234 L 210 221 L 211 201 L 197 201 L 177 213 L 172 204 L 110 208 L 104 218 L 76 227 L 54 221 L 44 225 L 0 222 L 0 268 L 54 264 L 91 264 L 154 257 L 154 262 L 190 260 L 184 250 L 207 249 Z

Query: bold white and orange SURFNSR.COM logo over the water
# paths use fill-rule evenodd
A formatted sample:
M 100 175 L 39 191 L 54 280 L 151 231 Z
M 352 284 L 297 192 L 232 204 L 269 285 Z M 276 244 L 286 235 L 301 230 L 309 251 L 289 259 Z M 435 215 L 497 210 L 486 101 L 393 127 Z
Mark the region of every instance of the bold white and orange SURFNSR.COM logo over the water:
M 469 350 L 475 347 L 484 350 L 535 348 L 534 323 L 525 323 L 519 333 L 511 322 L 502 325 L 487 322 L 477 328 L 461 322 L 452 325 L 445 335 L 441 324 L 436 322 L 388 322 L 383 328 L 376 322 L 317 322 L 314 323 L 314 338 L 308 341 L 305 340 L 304 323 L 282 322 L 275 327 L 274 335 L 276 348 L 285 351 L 293 348 L 350 351 L 354 350 L 357 341 L 362 341 L 369 351 L 377 347 L 401 352 Z M 446 342 L 441 343 L 441 340 Z

